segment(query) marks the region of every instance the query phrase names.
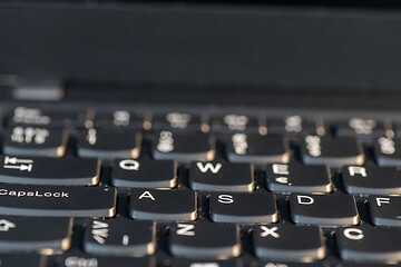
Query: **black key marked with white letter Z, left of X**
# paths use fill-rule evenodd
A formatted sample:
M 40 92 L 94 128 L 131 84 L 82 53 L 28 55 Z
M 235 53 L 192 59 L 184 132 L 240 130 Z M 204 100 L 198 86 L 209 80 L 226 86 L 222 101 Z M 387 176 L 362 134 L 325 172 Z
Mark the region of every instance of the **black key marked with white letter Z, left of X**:
M 205 259 L 238 257 L 242 251 L 235 225 L 175 224 L 169 230 L 169 250 L 174 256 Z

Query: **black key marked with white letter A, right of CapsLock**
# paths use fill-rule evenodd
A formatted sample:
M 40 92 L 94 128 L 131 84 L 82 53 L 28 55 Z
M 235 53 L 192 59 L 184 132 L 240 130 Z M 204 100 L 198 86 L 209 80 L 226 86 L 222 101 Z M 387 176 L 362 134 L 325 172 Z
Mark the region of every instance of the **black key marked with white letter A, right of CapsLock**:
M 134 219 L 189 221 L 197 217 L 196 192 L 188 189 L 133 189 L 129 212 Z

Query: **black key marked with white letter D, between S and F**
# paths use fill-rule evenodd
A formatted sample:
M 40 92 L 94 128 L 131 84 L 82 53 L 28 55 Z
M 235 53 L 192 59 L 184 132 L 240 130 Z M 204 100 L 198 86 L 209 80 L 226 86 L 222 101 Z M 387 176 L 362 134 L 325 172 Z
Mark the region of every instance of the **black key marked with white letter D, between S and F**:
M 351 195 L 291 194 L 292 220 L 301 225 L 341 226 L 358 225 L 360 217 Z

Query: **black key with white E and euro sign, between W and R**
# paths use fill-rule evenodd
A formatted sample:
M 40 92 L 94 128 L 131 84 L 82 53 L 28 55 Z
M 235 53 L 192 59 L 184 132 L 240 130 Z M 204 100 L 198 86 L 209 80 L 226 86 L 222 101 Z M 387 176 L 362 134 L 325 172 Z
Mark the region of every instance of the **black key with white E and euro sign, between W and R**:
M 266 169 L 267 188 L 278 192 L 331 192 L 333 184 L 326 166 L 299 162 L 273 164 Z

